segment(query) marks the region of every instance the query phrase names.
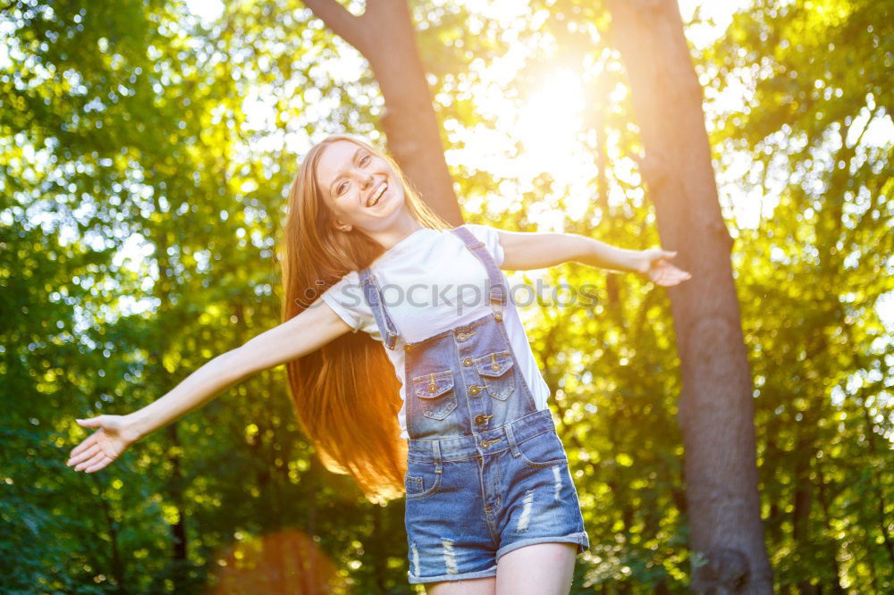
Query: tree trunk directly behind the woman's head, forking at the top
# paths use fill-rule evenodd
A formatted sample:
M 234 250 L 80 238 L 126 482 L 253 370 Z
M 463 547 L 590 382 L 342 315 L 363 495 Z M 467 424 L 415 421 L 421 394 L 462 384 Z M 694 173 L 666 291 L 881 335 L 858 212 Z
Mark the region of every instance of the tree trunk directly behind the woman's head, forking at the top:
M 367 58 L 385 99 L 382 127 L 388 150 L 426 204 L 447 222 L 460 225 L 460 205 L 444 161 L 441 128 L 406 1 L 367 0 L 361 16 L 348 13 L 334 0 L 304 0 L 304 4 Z

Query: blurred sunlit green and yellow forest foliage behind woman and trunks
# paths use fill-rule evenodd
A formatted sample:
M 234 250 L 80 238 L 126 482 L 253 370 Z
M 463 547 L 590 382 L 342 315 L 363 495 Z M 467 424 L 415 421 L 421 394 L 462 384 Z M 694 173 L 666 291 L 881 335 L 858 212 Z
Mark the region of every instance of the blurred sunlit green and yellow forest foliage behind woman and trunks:
M 680 6 L 780 592 L 894 583 L 892 4 Z M 409 8 L 466 221 L 659 243 L 602 4 Z M 366 61 L 291 0 L 18 0 L 0 35 L 0 591 L 414 592 L 401 501 L 322 469 L 282 369 L 102 473 L 64 466 L 74 417 L 142 406 L 279 323 L 300 155 L 340 130 L 384 145 Z M 577 264 L 510 279 L 602 288 L 589 308 L 518 294 L 593 544 L 575 591 L 686 592 L 666 292 Z

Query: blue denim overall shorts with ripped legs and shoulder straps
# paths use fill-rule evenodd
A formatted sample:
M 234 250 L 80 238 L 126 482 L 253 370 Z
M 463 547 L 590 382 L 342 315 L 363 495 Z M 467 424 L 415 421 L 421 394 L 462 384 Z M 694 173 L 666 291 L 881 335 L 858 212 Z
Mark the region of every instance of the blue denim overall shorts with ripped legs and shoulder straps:
M 468 229 L 451 231 L 484 264 L 492 312 L 404 342 L 410 583 L 495 576 L 503 554 L 535 543 L 589 547 L 552 414 L 536 409 L 502 324 L 500 269 Z M 359 276 L 393 349 L 400 334 L 375 276 Z

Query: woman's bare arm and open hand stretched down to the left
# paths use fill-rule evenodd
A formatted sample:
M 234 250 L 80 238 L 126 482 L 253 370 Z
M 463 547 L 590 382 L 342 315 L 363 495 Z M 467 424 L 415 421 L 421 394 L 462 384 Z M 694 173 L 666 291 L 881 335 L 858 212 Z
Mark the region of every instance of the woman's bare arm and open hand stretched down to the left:
M 291 320 L 249 339 L 198 368 L 170 392 L 128 415 L 99 415 L 77 422 L 97 428 L 72 449 L 67 465 L 93 473 L 158 428 L 205 405 L 254 374 L 304 356 L 350 331 L 350 326 L 320 300 Z

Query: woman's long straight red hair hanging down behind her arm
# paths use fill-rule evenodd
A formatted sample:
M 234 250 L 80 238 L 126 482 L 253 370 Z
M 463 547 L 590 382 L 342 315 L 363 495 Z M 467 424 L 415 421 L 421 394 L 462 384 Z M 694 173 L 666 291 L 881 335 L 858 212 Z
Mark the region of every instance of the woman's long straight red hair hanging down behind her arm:
M 412 189 L 397 163 L 349 135 L 325 138 L 308 151 L 289 190 L 281 264 L 283 322 L 300 314 L 323 291 L 351 271 L 366 268 L 384 248 L 357 227 L 336 230 L 316 178 L 325 147 L 350 141 L 388 161 L 401 180 L 409 212 L 424 227 L 450 229 Z M 322 281 L 322 284 L 318 281 Z M 365 332 L 348 332 L 286 365 L 299 423 L 324 465 L 349 473 L 368 499 L 403 493 L 407 443 L 397 415 L 400 382 L 382 343 Z

